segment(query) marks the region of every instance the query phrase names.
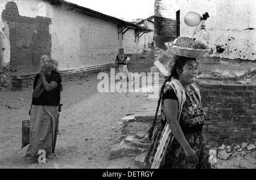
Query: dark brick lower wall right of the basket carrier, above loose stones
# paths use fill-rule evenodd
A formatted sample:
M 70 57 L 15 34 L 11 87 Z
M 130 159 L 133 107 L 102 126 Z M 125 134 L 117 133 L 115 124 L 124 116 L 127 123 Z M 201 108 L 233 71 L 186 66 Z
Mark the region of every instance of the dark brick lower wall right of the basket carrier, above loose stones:
M 205 113 L 204 135 L 210 142 L 241 143 L 256 139 L 256 85 L 199 84 Z

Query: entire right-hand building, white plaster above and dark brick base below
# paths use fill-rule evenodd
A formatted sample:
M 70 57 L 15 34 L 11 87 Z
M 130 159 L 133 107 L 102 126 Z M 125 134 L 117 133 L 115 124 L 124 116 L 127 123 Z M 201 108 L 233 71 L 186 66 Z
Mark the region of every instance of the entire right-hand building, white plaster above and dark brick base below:
M 211 52 L 198 58 L 197 85 L 202 96 L 208 142 L 221 145 L 255 142 L 256 2 L 247 0 L 155 0 L 156 60 L 167 65 L 172 57 L 165 42 L 192 37 L 197 27 L 184 23 L 189 11 L 208 12 L 205 31 L 195 38 Z M 155 68 L 151 68 L 151 70 Z

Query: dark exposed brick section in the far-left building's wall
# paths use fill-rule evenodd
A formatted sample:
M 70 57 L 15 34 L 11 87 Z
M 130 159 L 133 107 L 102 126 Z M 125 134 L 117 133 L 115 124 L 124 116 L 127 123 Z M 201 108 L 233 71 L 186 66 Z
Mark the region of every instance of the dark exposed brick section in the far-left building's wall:
M 20 16 L 14 2 L 8 2 L 2 20 L 9 23 L 10 68 L 38 66 L 43 54 L 51 55 L 51 19 Z

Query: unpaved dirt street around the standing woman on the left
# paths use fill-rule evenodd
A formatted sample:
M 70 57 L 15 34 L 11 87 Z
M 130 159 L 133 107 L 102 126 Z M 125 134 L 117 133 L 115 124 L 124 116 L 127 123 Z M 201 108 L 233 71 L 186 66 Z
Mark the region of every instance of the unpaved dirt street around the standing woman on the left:
M 150 72 L 153 60 L 139 59 L 130 72 Z M 106 71 L 108 74 L 109 71 Z M 21 149 L 21 124 L 28 118 L 32 89 L 0 93 L 0 168 L 137 168 L 134 157 L 108 160 L 121 136 L 121 119 L 146 102 L 145 93 L 99 93 L 98 74 L 64 80 L 59 135 L 47 164 L 32 162 Z

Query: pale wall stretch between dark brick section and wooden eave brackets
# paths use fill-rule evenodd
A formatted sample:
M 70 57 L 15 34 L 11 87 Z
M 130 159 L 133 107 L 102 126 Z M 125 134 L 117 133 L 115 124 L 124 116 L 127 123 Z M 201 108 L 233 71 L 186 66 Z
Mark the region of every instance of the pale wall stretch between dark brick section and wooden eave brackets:
M 119 40 L 117 24 L 81 15 L 64 7 L 52 11 L 52 57 L 60 69 L 114 63 Z

